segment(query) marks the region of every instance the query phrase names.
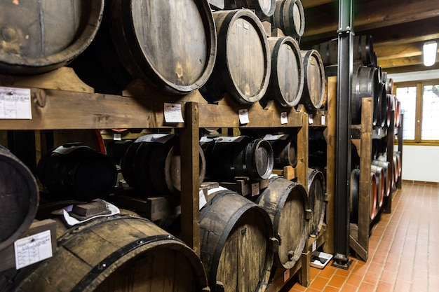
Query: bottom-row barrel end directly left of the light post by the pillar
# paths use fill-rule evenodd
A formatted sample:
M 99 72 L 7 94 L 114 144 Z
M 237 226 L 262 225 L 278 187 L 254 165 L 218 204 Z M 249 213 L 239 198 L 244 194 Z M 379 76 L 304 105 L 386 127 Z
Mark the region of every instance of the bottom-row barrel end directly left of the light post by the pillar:
M 309 234 L 318 235 L 325 221 L 327 202 L 325 176 L 318 169 L 308 169 L 308 200 L 313 212 L 309 221 Z

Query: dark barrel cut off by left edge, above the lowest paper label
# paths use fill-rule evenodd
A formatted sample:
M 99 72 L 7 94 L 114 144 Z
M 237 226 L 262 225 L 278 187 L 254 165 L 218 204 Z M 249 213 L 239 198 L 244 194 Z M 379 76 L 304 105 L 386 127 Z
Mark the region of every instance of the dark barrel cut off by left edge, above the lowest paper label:
M 8 149 L 0 146 L 0 251 L 29 228 L 39 204 L 32 172 Z

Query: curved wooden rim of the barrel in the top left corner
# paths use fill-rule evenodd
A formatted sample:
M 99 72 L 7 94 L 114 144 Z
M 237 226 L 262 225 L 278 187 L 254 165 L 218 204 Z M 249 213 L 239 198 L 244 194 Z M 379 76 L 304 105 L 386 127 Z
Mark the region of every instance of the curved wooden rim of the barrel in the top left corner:
M 101 24 L 104 0 L 90 1 L 90 5 L 86 26 L 70 46 L 45 57 L 15 57 L 0 51 L 0 71 L 5 74 L 39 74 L 58 69 L 72 62 L 90 46 Z

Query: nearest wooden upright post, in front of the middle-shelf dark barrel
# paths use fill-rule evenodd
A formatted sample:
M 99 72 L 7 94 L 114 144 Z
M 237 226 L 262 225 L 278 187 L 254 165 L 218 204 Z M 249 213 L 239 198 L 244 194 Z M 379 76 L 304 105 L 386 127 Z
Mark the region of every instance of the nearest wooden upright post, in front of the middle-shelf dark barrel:
M 185 127 L 180 129 L 182 240 L 200 256 L 198 104 L 188 102 L 185 109 Z

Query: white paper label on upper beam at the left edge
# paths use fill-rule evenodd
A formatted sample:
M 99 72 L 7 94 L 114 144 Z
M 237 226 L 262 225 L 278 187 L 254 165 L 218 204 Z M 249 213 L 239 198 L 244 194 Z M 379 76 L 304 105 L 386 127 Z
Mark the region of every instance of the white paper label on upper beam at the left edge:
M 32 119 L 30 89 L 0 88 L 0 118 Z

